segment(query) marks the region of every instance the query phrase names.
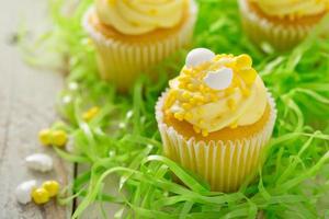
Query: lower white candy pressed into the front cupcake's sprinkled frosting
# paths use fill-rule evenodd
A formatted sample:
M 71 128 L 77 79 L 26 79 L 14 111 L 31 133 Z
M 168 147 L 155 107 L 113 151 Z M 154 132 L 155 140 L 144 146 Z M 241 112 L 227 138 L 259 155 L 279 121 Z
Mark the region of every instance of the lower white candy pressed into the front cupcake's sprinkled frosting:
M 203 81 L 212 89 L 224 90 L 229 87 L 232 80 L 232 69 L 223 67 L 217 71 L 211 71 Z

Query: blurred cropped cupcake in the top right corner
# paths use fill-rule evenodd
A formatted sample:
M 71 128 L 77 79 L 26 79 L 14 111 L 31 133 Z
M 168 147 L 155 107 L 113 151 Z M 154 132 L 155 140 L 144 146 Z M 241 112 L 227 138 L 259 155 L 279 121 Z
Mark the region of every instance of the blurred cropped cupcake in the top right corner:
M 328 14 L 329 0 L 239 0 L 245 31 L 256 44 L 286 50 Z

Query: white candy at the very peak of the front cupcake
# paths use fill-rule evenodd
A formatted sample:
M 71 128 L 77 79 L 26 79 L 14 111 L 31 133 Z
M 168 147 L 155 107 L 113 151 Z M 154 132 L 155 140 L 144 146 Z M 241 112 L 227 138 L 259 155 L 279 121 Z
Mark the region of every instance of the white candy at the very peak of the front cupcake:
M 200 64 L 212 60 L 214 57 L 215 54 L 207 48 L 194 48 L 188 54 L 185 66 L 188 68 L 196 67 Z

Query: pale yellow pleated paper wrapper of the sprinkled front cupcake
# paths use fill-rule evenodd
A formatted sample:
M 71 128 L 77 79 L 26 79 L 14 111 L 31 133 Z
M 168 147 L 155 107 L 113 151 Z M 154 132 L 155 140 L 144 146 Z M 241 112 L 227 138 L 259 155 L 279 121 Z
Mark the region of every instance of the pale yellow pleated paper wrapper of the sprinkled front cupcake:
M 156 106 L 164 155 L 203 177 L 212 191 L 235 192 L 247 178 L 250 180 L 262 164 L 276 118 L 271 94 L 269 93 L 270 117 L 259 132 L 243 139 L 208 142 L 185 139 L 173 127 L 163 123 L 162 106 L 166 94 L 162 94 Z

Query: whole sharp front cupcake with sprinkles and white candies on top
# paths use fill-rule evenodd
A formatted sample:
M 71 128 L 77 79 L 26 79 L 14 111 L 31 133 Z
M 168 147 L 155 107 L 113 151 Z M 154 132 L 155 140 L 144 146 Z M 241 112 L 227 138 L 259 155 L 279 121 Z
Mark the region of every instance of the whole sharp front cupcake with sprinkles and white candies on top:
M 248 55 L 189 53 L 156 105 L 164 155 L 212 191 L 237 191 L 262 163 L 276 110 Z

